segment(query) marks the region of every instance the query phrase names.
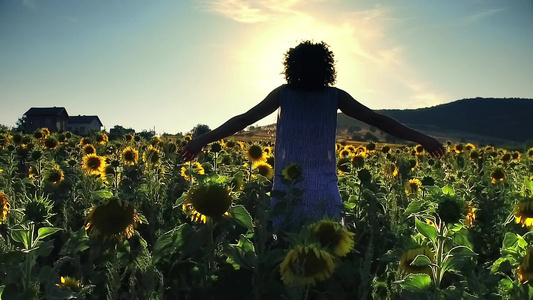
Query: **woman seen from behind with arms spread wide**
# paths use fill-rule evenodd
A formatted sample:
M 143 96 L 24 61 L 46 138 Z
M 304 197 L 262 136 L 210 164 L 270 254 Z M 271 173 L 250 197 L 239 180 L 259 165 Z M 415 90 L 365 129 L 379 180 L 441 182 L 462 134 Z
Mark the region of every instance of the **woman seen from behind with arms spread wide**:
M 183 148 L 184 160 L 194 159 L 205 145 L 234 134 L 278 109 L 273 189 L 285 189 L 281 180 L 283 169 L 293 162 L 300 166 L 303 180 L 298 188 L 304 193 L 290 221 L 298 224 L 304 219 L 322 219 L 324 215 L 340 217 L 342 202 L 335 156 L 338 109 L 390 135 L 419 143 L 435 157 L 444 155 L 444 147 L 436 139 L 378 114 L 347 92 L 332 87 L 336 78 L 335 61 L 326 43 L 300 43 L 287 51 L 283 65 L 287 84 L 275 88 L 249 111 L 191 140 Z M 274 205 L 277 200 L 271 202 Z

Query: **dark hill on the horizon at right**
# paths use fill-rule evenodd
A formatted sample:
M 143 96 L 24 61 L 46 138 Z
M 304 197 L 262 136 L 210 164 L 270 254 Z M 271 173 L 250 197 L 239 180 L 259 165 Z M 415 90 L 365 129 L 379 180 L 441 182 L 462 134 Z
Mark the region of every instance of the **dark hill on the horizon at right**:
M 522 143 L 533 139 L 533 99 L 478 97 L 428 108 L 377 112 L 442 139 L 491 143 Z M 338 116 L 339 132 L 361 133 L 368 128 L 342 113 Z

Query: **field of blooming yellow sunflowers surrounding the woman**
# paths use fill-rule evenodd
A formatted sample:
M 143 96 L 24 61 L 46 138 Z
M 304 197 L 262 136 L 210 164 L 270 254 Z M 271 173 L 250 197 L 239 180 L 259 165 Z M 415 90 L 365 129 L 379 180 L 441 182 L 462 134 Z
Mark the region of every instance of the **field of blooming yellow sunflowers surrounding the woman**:
M 0 299 L 533 298 L 533 148 L 339 143 L 342 220 L 284 227 L 298 165 L 190 139 L 0 132 Z

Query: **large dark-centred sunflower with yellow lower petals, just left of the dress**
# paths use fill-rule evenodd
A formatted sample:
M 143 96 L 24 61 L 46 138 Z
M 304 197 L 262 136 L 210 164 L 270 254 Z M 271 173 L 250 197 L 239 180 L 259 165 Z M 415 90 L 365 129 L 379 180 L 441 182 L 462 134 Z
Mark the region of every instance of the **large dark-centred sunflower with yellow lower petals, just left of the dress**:
M 228 187 L 211 181 L 193 186 L 187 193 L 187 200 L 182 209 L 191 213 L 194 222 L 205 223 L 207 218 L 218 219 L 229 215 L 232 200 Z

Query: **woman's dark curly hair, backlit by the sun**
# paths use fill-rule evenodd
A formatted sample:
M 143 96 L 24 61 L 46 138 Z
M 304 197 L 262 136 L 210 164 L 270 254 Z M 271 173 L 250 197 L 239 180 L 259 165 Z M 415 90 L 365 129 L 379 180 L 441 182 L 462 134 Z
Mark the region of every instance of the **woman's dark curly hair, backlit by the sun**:
M 335 83 L 335 60 L 329 45 L 303 41 L 290 48 L 283 60 L 287 84 L 295 89 L 316 90 Z

